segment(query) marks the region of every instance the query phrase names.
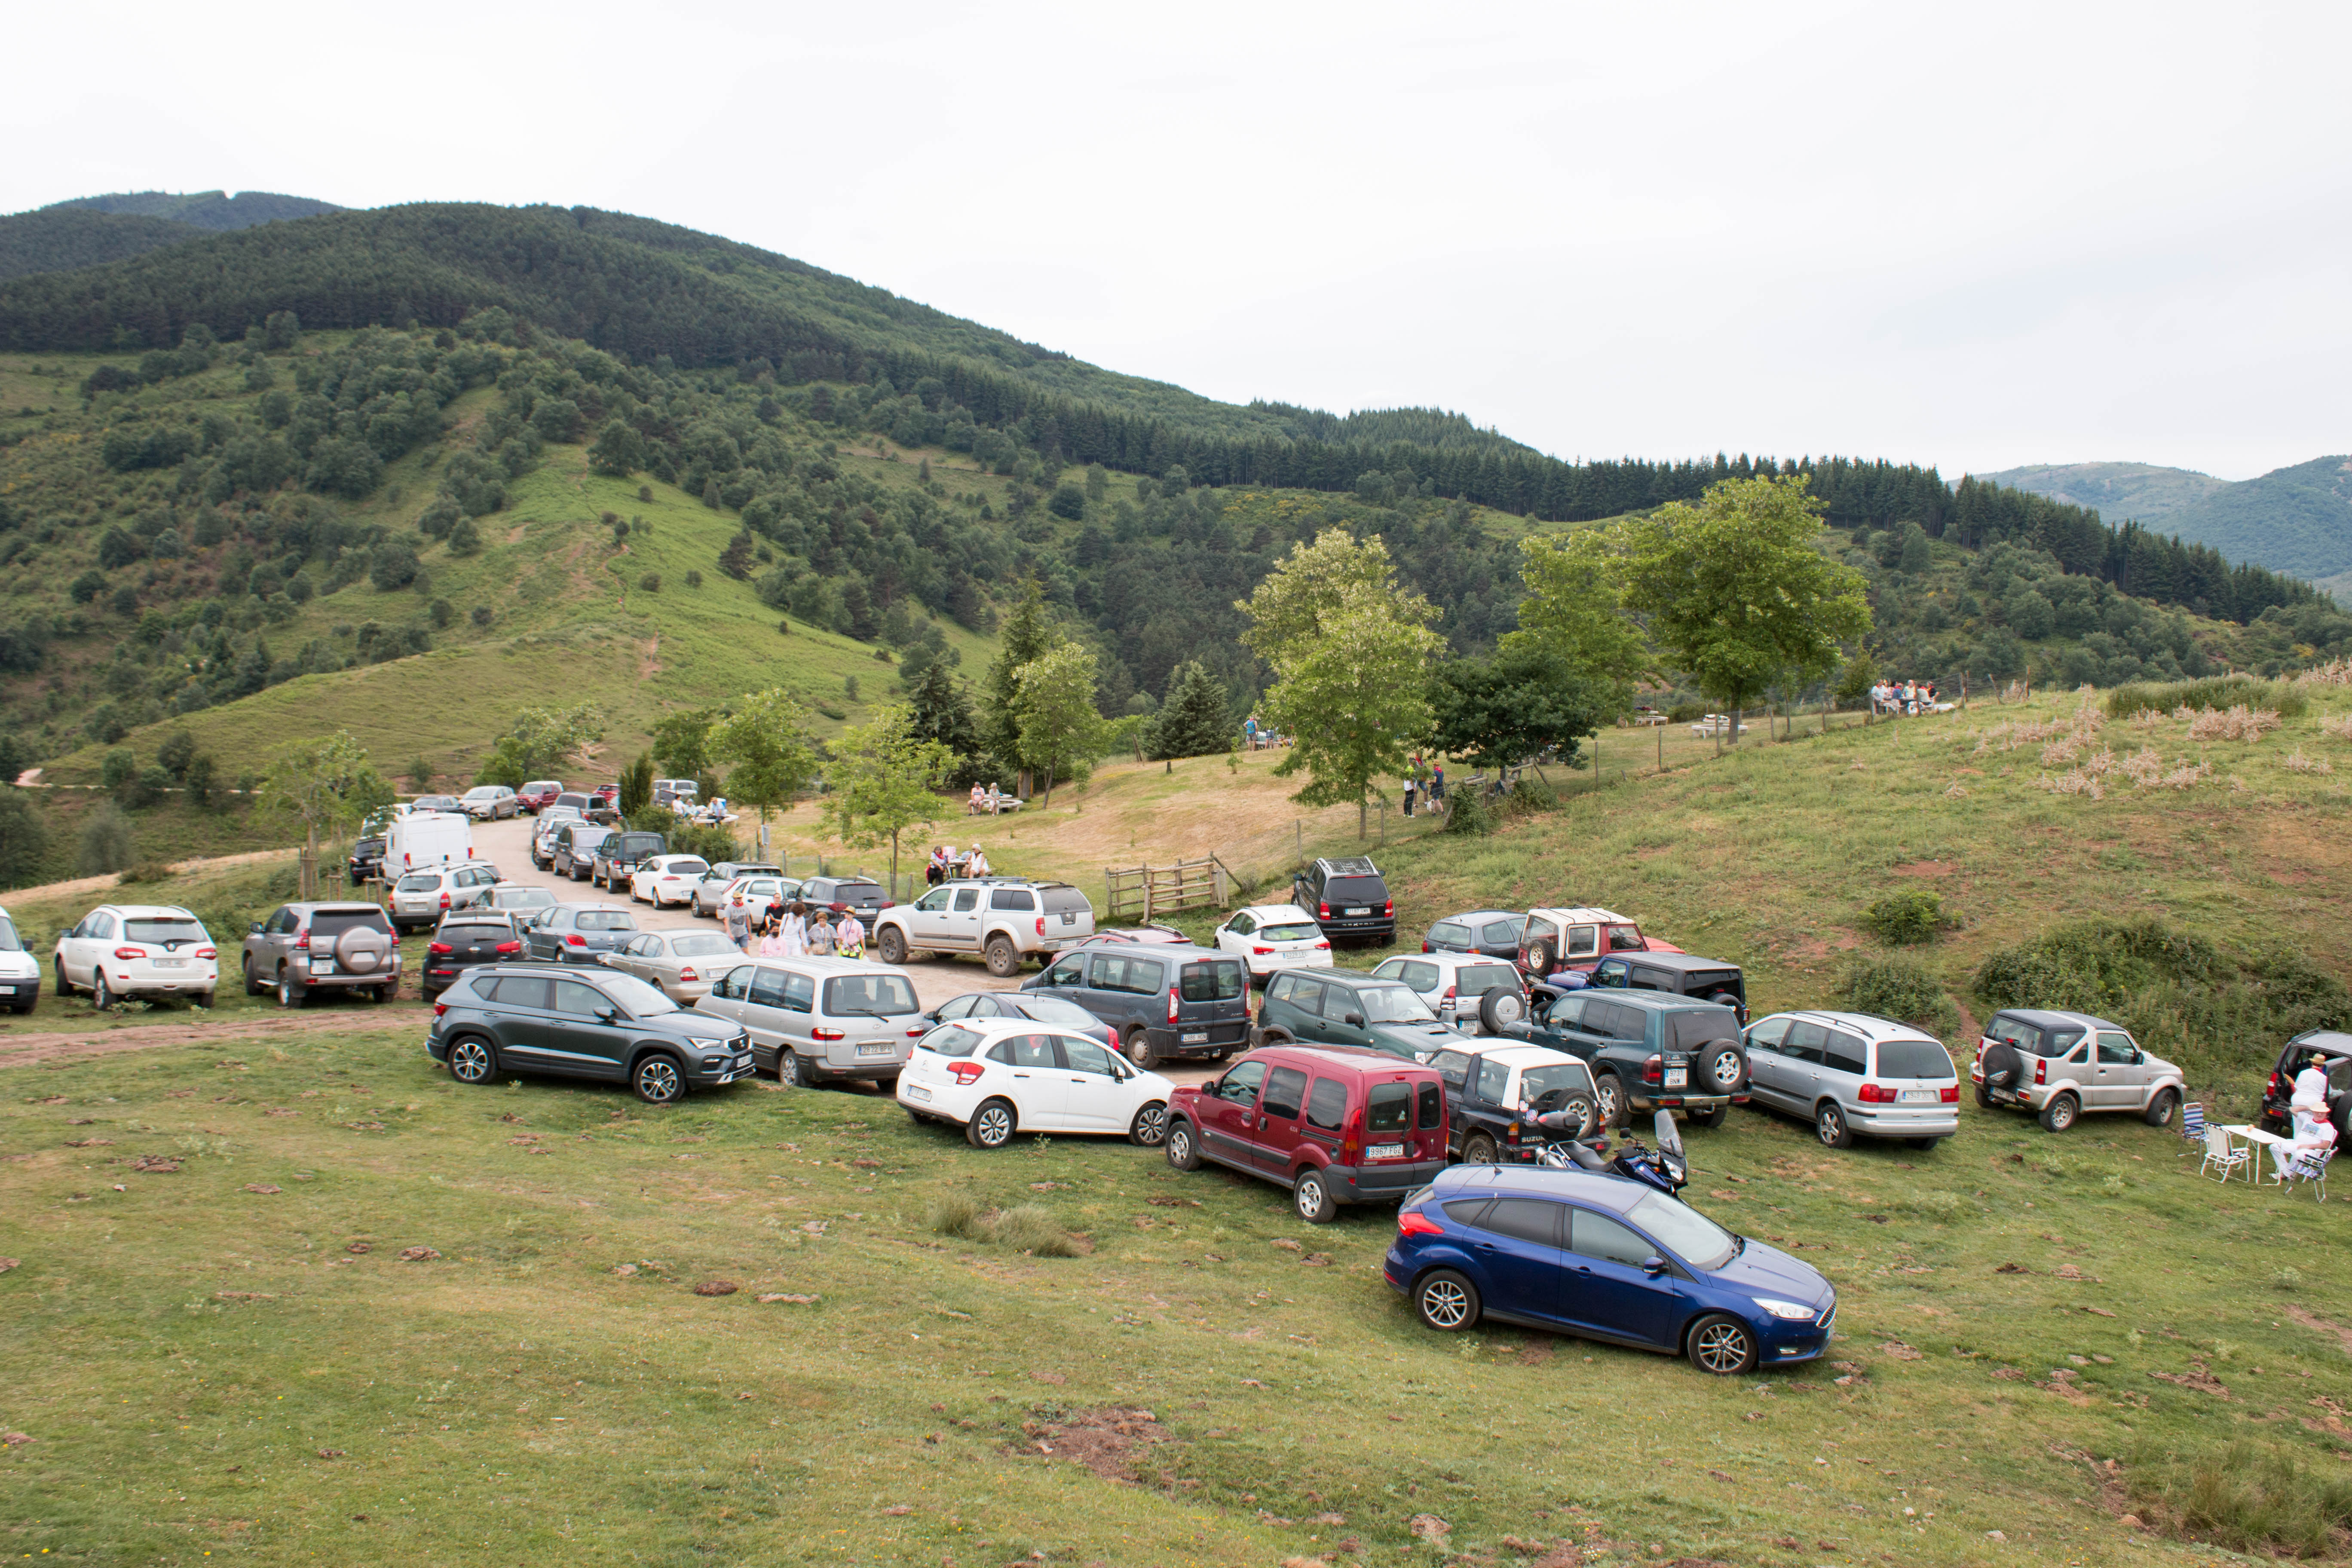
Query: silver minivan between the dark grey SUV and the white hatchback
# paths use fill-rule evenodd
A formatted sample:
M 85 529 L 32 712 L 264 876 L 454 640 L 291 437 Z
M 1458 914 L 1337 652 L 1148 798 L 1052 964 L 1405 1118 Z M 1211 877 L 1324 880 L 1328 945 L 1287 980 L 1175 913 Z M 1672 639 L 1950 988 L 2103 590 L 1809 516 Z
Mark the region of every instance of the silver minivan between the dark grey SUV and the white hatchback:
M 741 1023 L 755 1065 L 797 1088 L 844 1079 L 891 1088 L 931 1027 L 908 978 L 866 959 L 746 959 L 694 1011 Z

